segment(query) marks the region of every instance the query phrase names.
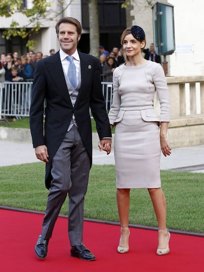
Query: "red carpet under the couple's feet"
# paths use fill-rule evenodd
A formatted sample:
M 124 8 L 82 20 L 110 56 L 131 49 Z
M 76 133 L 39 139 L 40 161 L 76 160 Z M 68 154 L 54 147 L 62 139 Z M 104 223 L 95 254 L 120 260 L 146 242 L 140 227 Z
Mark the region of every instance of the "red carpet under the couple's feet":
M 84 222 L 84 243 L 93 262 L 70 257 L 66 218 L 59 217 L 45 260 L 34 244 L 43 215 L 0 209 L 0 272 L 203 272 L 204 238 L 172 234 L 170 254 L 156 255 L 157 232 L 130 228 L 130 251 L 116 251 L 120 227 Z

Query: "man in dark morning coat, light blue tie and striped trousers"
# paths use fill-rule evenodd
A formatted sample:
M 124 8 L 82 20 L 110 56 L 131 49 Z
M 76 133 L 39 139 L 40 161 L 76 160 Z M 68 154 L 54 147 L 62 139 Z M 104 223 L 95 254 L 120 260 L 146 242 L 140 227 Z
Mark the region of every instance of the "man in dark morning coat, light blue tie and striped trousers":
M 35 253 L 39 258 L 46 257 L 55 222 L 68 195 L 71 256 L 94 261 L 96 257 L 83 244 L 84 197 L 92 164 L 90 109 L 96 121 L 100 150 L 107 154 L 111 150 L 100 62 L 96 57 L 78 52 L 82 27 L 77 19 L 60 19 L 56 33 L 61 48 L 36 63 L 30 110 L 35 154 L 37 159 L 46 163 L 45 184 L 49 189 Z M 61 247 L 62 244 L 58 250 Z

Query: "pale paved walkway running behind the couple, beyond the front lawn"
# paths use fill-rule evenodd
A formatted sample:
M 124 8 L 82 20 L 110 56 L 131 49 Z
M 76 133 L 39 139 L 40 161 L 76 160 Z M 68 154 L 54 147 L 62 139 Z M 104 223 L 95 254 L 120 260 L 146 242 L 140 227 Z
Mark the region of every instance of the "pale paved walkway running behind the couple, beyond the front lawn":
M 169 157 L 161 155 L 161 170 L 204 172 L 204 145 L 180 147 L 171 150 Z M 30 142 L 0 140 L 0 166 L 39 162 Z M 113 151 L 93 150 L 93 164 L 114 165 Z

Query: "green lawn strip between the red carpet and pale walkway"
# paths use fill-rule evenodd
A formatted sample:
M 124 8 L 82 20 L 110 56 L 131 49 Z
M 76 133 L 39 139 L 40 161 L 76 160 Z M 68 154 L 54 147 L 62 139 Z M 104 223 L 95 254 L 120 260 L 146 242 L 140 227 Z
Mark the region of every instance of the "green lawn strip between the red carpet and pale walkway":
M 0 167 L 0 205 L 44 211 L 44 163 Z M 204 173 L 161 171 L 168 228 L 204 233 Z M 94 165 L 85 199 L 85 217 L 118 222 L 114 166 Z M 67 214 L 68 202 L 61 213 Z M 157 226 L 146 189 L 131 191 L 130 223 Z

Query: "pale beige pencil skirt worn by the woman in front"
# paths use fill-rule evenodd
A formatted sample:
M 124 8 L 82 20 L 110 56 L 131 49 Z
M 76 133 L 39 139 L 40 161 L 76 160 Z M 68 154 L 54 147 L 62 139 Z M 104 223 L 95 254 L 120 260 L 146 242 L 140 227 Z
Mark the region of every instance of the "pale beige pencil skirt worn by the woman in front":
M 145 122 L 140 110 L 126 111 L 116 124 L 114 155 L 117 188 L 160 188 L 158 122 Z

